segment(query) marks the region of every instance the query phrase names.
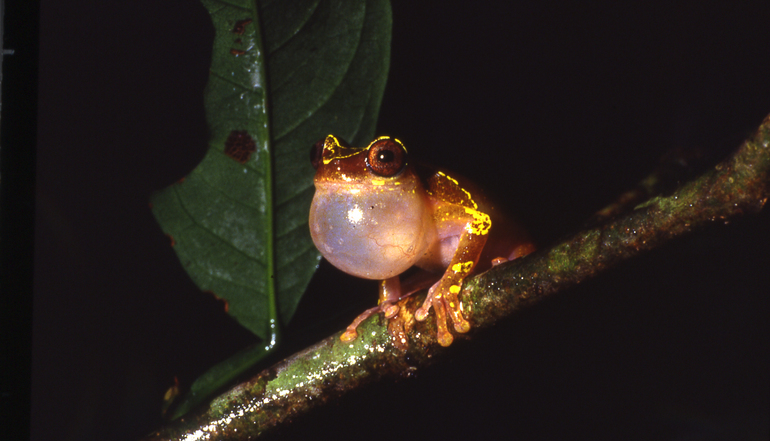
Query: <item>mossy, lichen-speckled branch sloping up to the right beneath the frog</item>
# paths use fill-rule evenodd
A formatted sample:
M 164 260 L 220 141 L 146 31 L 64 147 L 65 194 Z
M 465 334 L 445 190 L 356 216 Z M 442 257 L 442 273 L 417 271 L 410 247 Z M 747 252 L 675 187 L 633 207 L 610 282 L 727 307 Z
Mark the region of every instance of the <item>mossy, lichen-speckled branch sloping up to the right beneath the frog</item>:
M 499 265 L 463 287 L 471 334 L 539 299 L 587 280 L 698 226 L 762 209 L 770 188 L 770 116 L 753 139 L 710 171 L 667 196 L 656 196 L 605 223 L 523 259 Z M 617 206 L 612 206 L 617 207 Z M 418 297 L 404 300 L 414 310 Z M 349 344 L 339 333 L 297 353 L 216 398 L 197 415 L 147 440 L 252 439 L 362 384 L 408 375 L 451 352 L 435 339 L 435 324 L 417 323 L 406 350 L 394 345 L 375 316 Z

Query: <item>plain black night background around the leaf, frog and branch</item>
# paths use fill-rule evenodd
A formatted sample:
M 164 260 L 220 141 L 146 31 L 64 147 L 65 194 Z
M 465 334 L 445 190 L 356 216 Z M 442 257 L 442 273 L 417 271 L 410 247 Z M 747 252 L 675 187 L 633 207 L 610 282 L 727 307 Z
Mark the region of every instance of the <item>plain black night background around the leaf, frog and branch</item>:
M 716 162 L 770 113 L 765 2 L 479 3 L 393 6 L 378 132 L 476 180 L 541 244 L 666 151 Z M 46 1 L 40 29 L 32 436 L 136 439 L 174 376 L 254 342 L 148 208 L 205 151 L 213 30 L 181 0 Z M 768 220 L 678 239 L 276 435 L 766 438 Z M 322 265 L 276 357 L 375 298 Z

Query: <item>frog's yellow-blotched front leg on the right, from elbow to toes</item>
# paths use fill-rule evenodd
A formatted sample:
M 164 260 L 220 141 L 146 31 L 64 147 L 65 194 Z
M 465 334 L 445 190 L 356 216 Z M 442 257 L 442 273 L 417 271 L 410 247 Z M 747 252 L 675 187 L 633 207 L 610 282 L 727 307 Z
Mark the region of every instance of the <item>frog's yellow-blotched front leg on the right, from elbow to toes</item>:
M 489 228 L 492 222 L 489 216 L 474 208 L 452 207 L 445 209 L 447 213 L 439 215 L 458 216 L 451 211 L 462 210 L 468 222 L 465 224 L 457 249 L 452 257 L 449 267 L 444 272 L 441 279 L 436 282 L 428 291 L 423 305 L 415 311 L 414 317 L 423 321 L 428 317 L 431 306 L 436 313 L 436 327 L 438 328 L 437 339 L 442 346 L 452 344 L 454 337 L 447 327 L 447 319 L 452 320 L 454 329 L 457 332 L 465 333 L 471 328 L 470 323 L 463 317 L 462 302 L 458 298 L 463 280 L 471 273 L 473 267 L 478 262 L 481 251 L 489 235 Z

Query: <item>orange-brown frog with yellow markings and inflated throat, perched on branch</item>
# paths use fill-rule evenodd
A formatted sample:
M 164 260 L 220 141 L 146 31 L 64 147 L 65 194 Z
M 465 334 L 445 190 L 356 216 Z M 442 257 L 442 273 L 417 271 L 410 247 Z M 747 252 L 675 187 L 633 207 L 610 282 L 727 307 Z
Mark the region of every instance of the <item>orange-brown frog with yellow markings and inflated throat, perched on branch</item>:
M 433 310 L 436 339 L 449 346 L 455 338 L 450 325 L 460 334 L 471 329 L 459 298 L 463 281 L 475 270 L 534 250 L 524 230 L 509 221 L 494 246 L 485 247 L 499 216 L 483 194 L 460 175 L 413 163 L 397 138 L 380 136 L 366 147 L 351 147 L 328 135 L 313 145 L 311 163 L 313 243 L 343 272 L 380 281 L 377 306 L 356 317 L 342 342 L 355 340 L 357 327 L 373 314 L 397 320 L 404 315 L 399 301 L 429 286 L 413 318 L 425 321 Z M 405 282 L 405 291 L 400 276 L 415 266 L 422 274 Z M 403 326 L 396 328 L 403 334 Z

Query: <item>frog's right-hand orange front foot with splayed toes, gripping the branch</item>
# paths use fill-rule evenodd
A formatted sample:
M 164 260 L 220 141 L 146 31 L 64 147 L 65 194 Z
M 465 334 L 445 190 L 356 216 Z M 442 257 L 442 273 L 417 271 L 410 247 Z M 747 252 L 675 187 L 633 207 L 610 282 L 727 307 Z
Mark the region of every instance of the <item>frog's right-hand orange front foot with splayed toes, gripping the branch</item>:
M 447 327 L 447 319 L 452 320 L 455 331 L 459 333 L 468 332 L 471 329 L 470 323 L 463 317 L 463 306 L 457 298 L 460 292 L 459 285 L 450 285 L 445 291 L 442 285 L 447 285 L 444 279 L 438 281 L 428 291 L 422 306 L 414 312 L 414 318 L 418 321 L 424 321 L 428 318 L 430 308 L 436 312 L 437 340 L 441 346 L 452 344 L 454 337 Z

